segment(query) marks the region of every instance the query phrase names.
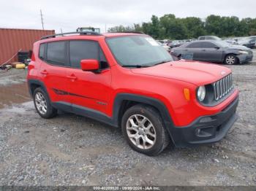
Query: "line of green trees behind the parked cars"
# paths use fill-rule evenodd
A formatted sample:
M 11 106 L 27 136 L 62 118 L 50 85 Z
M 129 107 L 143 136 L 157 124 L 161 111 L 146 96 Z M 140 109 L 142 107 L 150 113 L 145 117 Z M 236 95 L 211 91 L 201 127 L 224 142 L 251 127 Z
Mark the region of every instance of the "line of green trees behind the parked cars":
M 108 32 L 142 31 L 155 39 L 197 39 L 198 36 L 219 37 L 256 35 L 256 18 L 221 17 L 209 15 L 206 20 L 199 17 L 179 18 L 173 14 L 157 17 L 152 15 L 148 23 L 133 26 L 115 26 Z

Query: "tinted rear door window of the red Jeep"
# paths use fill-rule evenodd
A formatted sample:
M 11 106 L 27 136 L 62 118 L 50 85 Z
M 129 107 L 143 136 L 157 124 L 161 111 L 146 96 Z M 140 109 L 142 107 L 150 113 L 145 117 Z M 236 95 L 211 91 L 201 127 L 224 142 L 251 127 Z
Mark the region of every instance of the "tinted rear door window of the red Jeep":
M 59 66 L 64 66 L 66 62 L 65 42 L 49 42 L 47 45 L 47 61 Z

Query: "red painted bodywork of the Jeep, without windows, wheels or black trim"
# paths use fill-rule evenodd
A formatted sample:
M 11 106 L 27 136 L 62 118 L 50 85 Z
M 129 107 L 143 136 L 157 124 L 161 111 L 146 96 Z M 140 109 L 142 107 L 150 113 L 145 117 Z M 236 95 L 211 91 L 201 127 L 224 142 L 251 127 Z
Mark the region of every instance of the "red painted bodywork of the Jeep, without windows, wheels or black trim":
M 105 34 L 103 36 L 62 36 L 58 38 L 44 39 L 34 43 L 34 53 L 38 52 L 42 42 L 59 40 L 89 39 L 99 42 L 102 51 L 110 65 L 109 69 L 99 74 L 81 69 L 50 66 L 42 62 L 35 53 L 35 62 L 31 62 L 28 79 L 37 76 L 48 87 L 51 101 L 67 101 L 79 106 L 86 106 L 113 117 L 113 104 L 118 93 L 133 93 L 155 98 L 165 104 L 176 127 L 189 125 L 198 117 L 217 114 L 227 107 L 238 96 L 238 90 L 227 97 L 217 106 L 203 106 L 196 99 L 196 88 L 221 79 L 221 72 L 230 74 L 230 69 L 215 64 L 206 64 L 187 61 L 173 61 L 153 67 L 141 69 L 127 69 L 118 65 L 113 54 L 110 52 L 105 38 L 124 36 L 131 34 Z M 141 34 L 132 34 L 141 35 Z M 41 64 L 41 67 L 38 65 Z M 32 67 L 33 66 L 33 67 Z M 58 69 L 55 69 L 58 68 Z M 37 73 L 38 70 L 38 73 Z M 47 77 L 40 72 L 49 71 Z M 37 75 L 38 74 L 38 75 Z M 72 78 L 67 78 L 74 77 Z M 58 87 L 68 90 L 79 96 L 56 95 L 53 90 Z M 184 97 L 184 88 L 190 90 L 190 101 Z

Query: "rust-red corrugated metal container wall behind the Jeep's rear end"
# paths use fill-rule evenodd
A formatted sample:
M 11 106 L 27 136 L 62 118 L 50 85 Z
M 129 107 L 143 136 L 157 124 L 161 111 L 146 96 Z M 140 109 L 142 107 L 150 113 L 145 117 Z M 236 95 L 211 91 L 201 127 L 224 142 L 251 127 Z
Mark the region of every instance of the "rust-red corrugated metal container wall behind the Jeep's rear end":
M 0 28 L 0 65 L 18 50 L 32 50 L 34 42 L 40 37 L 54 33 L 54 30 Z M 18 61 L 18 57 L 15 56 L 12 61 Z

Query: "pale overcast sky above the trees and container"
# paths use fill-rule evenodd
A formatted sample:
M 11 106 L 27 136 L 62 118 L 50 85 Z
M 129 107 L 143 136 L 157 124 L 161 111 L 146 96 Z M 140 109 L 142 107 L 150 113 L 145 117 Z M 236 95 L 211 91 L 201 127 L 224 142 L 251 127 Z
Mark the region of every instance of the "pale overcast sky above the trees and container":
M 45 29 L 56 33 L 80 26 L 105 28 L 148 22 L 151 15 L 256 17 L 256 0 L 0 0 L 0 28 Z

